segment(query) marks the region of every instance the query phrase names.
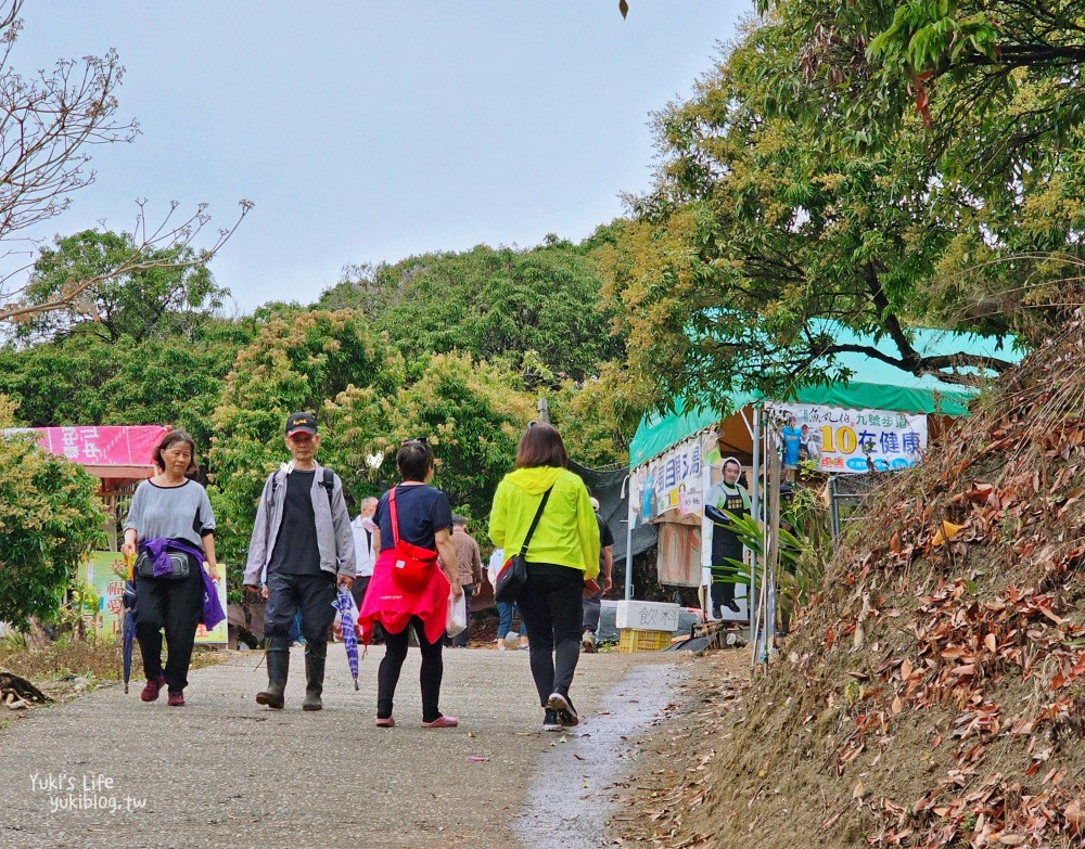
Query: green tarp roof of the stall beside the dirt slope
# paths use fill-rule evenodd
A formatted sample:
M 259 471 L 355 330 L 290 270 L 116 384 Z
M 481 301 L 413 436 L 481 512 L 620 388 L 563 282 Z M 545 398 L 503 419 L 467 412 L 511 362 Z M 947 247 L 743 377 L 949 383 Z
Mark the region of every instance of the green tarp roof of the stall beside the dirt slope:
M 1009 362 L 1021 359 L 1021 352 L 1013 350 L 1010 339 L 934 330 L 915 330 L 910 334 L 912 345 L 923 356 L 965 352 L 997 357 Z M 894 356 L 893 344 L 885 338 L 876 342 L 872 337 L 844 329 L 837 329 L 833 336 L 840 345 L 863 345 Z M 773 400 L 844 409 L 967 415 L 968 403 L 979 394 L 978 389 L 949 384 L 934 375 L 917 376 L 865 353 L 837 355 L 833 363 L 850 371 L 851 377 L 828 385 L 800 386 L 790 398 Z M 687 410 L 682 400 L 676 399 L 673 413 L 653 413 L 641 420 L 629 446 L 629 467 L 648 462 L 671 446 L 718 423 L 723 416 L 758 400 L 765 400 L 758 393 L 726 391 L 718 406 Z

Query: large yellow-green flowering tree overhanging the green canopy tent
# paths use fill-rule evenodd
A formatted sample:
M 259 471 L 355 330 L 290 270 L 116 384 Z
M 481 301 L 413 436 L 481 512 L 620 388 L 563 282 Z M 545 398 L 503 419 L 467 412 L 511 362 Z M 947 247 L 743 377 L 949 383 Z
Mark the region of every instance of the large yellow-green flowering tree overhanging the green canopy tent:
M 1032 169 L 1017 182 L 966 179 L 932 156 L 916 115 L 893 145 L 863 152 L 843 100 L 812 99 L 824 92 L 803 80 L 797 35 L 776 17 L 752 26 L 690 101 L 658 116 L 658 184 L 600 248 L 629 370 L 658 375 L 653 403 L 786 393 L 846 376 L 833 357 L 854 350 L 949 380 L 1001 369 L 924 356 L 909 327 L 1038 333 L 1030 299 L 1075 261 L 1039 253 L 1069 249 L 1080 228 L 1080 203 L 1058 202 L 1074 152 L 1037 141 L 1018 153 Z M 895 352 L 841 346 L 827 322 Z

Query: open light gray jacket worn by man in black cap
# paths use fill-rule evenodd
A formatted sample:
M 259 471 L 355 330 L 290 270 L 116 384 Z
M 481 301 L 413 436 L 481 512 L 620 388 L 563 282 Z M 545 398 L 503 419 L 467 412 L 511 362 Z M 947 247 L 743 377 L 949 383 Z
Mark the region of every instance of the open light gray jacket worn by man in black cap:
M 350 516 L 343 498 L 343 481 L 332 473 L 332 497 L 323 484 L 324 469 L 317 464 L 312 476 L 312 515 L 317 525 L 317 548 L 320 549 L 320 568 L 332 575 L 354 578 L 354 533 Z M 286 496 L 286 473 L 281 468 L 268 476 L 256 509 L 253 537 L 248 541 L 248 562 L 245 564 L 246 584 L 258 586 L 265 579 L 271 552 L 275 550 L 279 527 L 282 525 L 282 505 Z M 330 503 L 329 503 L 330 502 Z

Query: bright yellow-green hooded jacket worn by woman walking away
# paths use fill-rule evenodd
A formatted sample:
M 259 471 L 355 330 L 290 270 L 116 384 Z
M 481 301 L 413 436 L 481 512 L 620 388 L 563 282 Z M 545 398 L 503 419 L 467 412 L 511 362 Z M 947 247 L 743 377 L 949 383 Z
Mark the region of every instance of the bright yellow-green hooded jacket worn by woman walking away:
M 542 493 L 551 485 L 553 491 L 532 537 L 527 562 L 569 566 L 595 578 L 599 575 L 599 523 L 588 488 L 565 468 L 535 466 L 506 475 L 494 493 L 489 538 L 505 550 L 506 559 L 519 554 Z

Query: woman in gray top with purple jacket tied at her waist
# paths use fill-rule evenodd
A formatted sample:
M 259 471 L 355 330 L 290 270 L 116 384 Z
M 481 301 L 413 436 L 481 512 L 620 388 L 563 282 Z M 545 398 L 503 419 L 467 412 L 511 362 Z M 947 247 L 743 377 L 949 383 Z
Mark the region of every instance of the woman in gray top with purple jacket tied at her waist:
M 187 476 L 196 471 L 195 442 L 183 430 L 171 430 L 154 449 L 158 474 L 136 488 L 128 520 L 125 523 L 125 544 L 120 551 L 128 557 L 139 553 L 141 562 L 150 562 L 162 553 L 188 558 L 188 576 L 163 574 L 154 577 L 137 567 L 136 574 L 136 639 L 143 656 L 146 686 L 140 693 L 144 702 L 154 702 L 158 691 L 169 687 L 167 704 L 184 704 L 189 663 L 195 642 L 196 626 L 203 615 L 203 561 L 207 573 L 217 581 L 215 559 L 215 516 L 206 490 Z M 197 556 L 201 555 L 202 556 Z M 157 574 L 157 573 L 155 573 Z M 166 631 L 169 655 L 162 666 L 162 630 Z

